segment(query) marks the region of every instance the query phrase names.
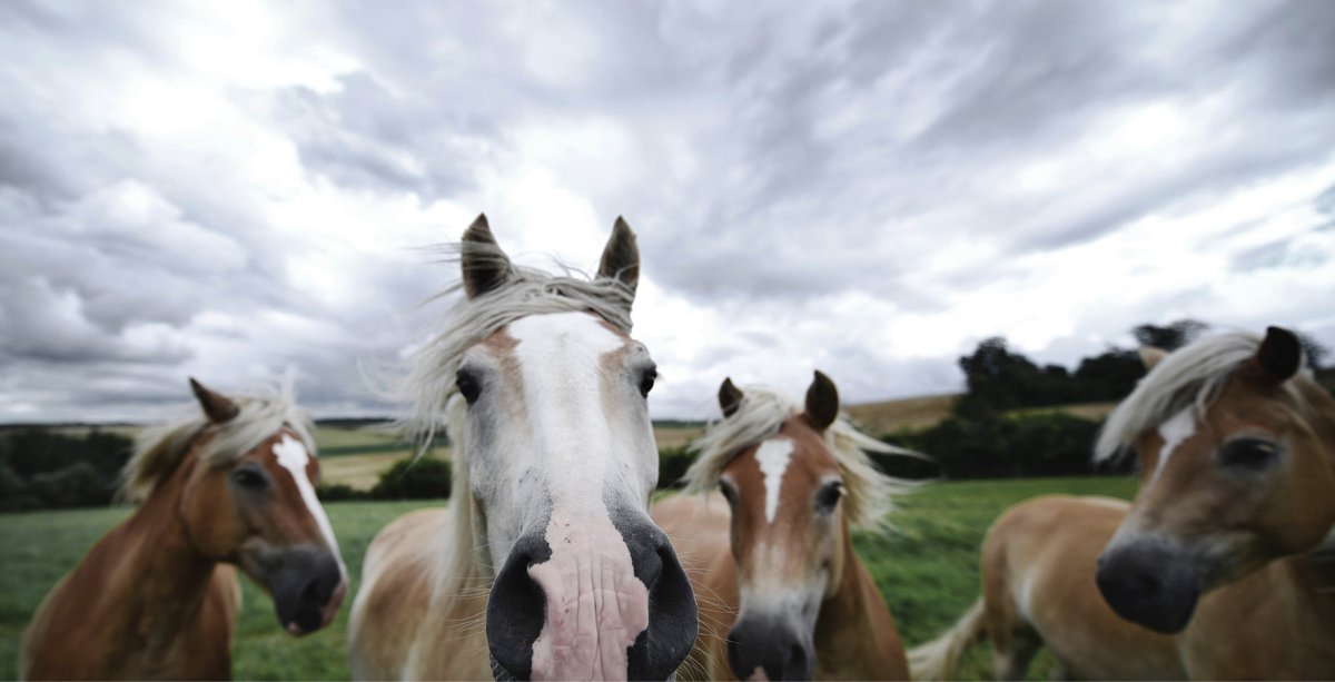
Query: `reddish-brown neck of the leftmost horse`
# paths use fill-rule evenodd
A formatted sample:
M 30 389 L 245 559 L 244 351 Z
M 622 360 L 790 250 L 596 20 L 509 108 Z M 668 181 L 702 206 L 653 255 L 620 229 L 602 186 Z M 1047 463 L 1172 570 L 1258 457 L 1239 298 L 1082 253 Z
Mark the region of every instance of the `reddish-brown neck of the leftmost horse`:
M 183 480 L 178 471 L 159 486 L 104 546 L 115 554 L 97 617 L 150 666 L 167 661 L 194 631 L 216 566 L 180 519 Z

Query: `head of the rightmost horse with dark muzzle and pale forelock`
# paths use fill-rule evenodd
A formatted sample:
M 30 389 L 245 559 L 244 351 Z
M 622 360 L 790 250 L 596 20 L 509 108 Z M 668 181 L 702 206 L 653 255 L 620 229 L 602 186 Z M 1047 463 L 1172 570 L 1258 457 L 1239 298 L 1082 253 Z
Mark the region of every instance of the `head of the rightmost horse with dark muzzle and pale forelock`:
M 1100 456 L 1133 446 L 1141 486 L 1097 581 L 1123 618 L 1177 633 L 1204 593 L 1331 531 L 1335 400 L 1278 327 L 1143 356 L 1151 372 L 1099 443 Z

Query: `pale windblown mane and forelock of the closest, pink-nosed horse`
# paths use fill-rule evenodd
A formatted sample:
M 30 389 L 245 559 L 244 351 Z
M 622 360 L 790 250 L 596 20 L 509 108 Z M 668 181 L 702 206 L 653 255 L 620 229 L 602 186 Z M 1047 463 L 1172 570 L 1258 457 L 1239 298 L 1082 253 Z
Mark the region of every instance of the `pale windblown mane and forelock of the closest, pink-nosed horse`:
M 455 254 L 447 259 L 458 263 L 462 244 L 447 250 Z M 469 488 L 469 459 L 462 443 L 467 442 L 465 403 L 457 399 L 455 386 L 463 352 L 485 340 L 506 324 L 529 315 L 585 311 L 598 315 L 609 324 L 630 334 L 630 304 L 634 292 L 617 279 L 586 279 L 571 276 L 574 270 L 562 266 L 563 275 L 511 266 L 505 254 L 483 244 L 467 246 L 469 258 L 477 263 L 509 267 L 506 284 L 477 298 L 461 296 L 445 316 L 442 330 L 411 358 L 407 372 L 388 391 L 388 398 L 406 407 L 399 427 L 426 451 L 438 431 L 446 431 L 454 447 L 454 480 L 451 483 L 451 529 L 438 537 L 442 559 L 435 563 L 437 591 L 445 613 L 446 602 L 457 599 L 479 581 L 490 579 L 493 569 L 486 553 L 478 551 L 485 538 L 481 510 Z M 462 282 L 435 298 L 459 292 Z

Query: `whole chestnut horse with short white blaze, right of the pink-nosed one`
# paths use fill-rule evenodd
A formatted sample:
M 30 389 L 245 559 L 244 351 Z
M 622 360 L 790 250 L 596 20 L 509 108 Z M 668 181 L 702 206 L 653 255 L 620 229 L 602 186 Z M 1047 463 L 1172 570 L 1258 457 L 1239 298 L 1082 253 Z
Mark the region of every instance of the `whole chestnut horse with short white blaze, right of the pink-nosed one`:
M 701 595 L 704 626 L 684 674 L 908 679 L 894 618 L 849 538 L 850 526 L 881 525 L 902 487 L 864 451 L 908 451 L 840 416 L 820 371 L 805 406 L 732 379 L 718 403 L 724 419 L 697 443 L 684 480 L 688 492 L 720 492 L 654 508 Z

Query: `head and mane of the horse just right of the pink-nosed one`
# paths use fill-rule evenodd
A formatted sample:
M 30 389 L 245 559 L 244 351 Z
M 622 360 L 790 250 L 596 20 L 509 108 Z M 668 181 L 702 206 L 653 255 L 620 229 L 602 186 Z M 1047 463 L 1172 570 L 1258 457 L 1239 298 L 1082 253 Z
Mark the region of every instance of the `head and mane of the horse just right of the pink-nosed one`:
M 728 662 L 740 679 L 810 679 L 822 605 L 849 575 L 849 526 L 874 527 L 896 483 L 865 451 L 905 452 L 840 418 L 834 383 L 816 372 L 804 403 L 725 379 L 724 419 L 697 443 L 688 490 L 717 486 L 732 508 L 740 611 Z

